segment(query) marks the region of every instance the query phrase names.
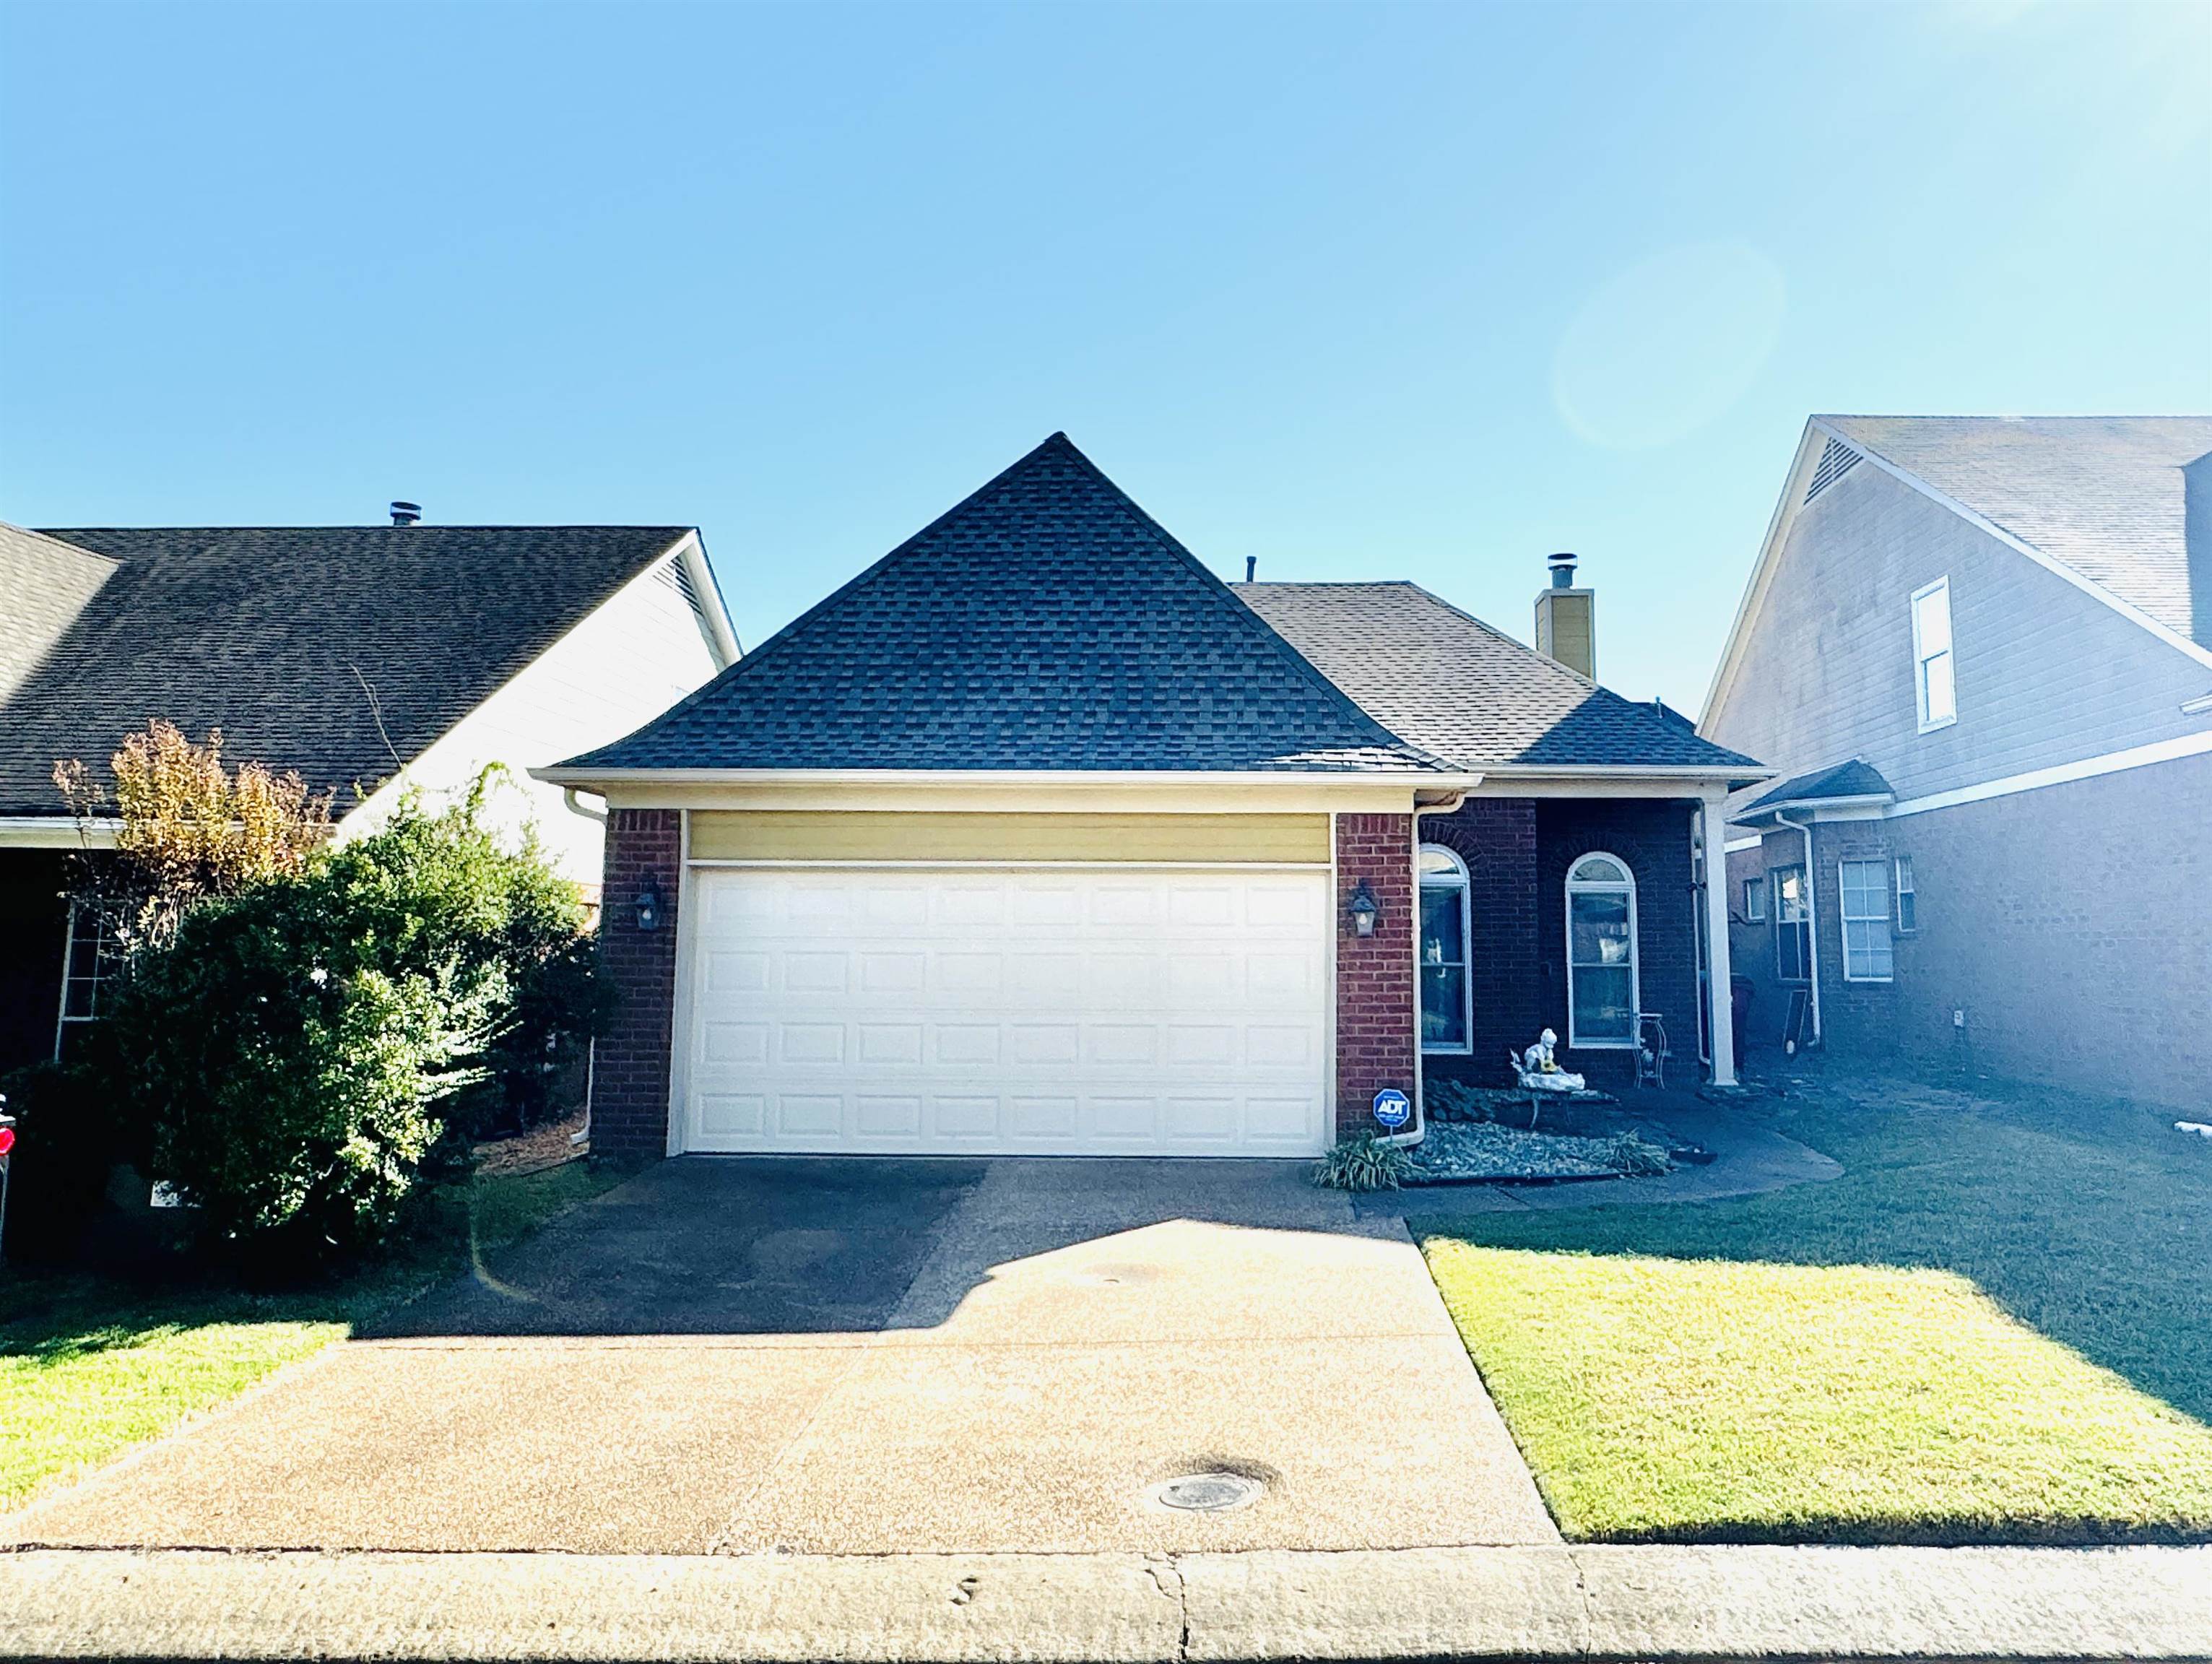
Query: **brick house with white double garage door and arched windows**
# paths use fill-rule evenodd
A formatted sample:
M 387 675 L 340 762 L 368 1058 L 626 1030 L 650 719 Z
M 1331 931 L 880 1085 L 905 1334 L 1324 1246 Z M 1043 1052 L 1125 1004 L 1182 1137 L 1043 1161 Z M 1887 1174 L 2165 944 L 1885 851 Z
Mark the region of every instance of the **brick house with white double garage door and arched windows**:
M 1763 777 L 1411 584 L 1223 584 L 1055 434 L 540 770 L 611 810 L 595 1144 L 1305 1155 L 1639 1013 L 1732 1080 L 1697 834 Z

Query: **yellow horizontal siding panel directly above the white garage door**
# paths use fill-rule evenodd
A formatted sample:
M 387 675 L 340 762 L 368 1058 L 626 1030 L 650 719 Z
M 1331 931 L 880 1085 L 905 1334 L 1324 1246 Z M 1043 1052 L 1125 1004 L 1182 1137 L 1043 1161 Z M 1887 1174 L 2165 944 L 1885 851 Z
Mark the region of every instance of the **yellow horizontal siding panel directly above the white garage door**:
M 1329 861 L 1327 814 L 692 810 L 692 861 Z

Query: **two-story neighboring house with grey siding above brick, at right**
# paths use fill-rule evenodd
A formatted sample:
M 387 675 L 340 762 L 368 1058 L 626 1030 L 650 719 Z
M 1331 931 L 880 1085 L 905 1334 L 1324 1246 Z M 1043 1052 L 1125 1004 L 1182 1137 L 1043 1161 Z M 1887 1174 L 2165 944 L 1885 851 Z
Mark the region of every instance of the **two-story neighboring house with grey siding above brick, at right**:
M 2212 1102 L 2212 418 L 1812 418 L 1699 732 L 1754 1047 Z

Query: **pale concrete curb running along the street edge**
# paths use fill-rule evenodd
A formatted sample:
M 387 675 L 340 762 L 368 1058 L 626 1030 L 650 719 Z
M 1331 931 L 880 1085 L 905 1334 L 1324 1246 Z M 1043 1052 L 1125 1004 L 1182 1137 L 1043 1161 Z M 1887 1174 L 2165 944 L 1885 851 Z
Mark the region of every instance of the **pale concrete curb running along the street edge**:
M 2212 1547 L 0 1553 L 0 1657 L 2205 1660 Z

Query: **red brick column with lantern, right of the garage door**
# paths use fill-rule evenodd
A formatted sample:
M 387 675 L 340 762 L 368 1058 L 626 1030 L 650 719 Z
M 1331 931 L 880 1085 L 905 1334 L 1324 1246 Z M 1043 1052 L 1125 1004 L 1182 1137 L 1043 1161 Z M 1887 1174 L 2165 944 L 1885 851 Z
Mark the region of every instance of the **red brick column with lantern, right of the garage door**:
M 1347 905 L 1367 883 L 1383 916 L 1356 936 Z M 1336 1135 L 1374 1124 L 1374 1095 L 1413 1095 L 1413 817 L 1336 817 Z

